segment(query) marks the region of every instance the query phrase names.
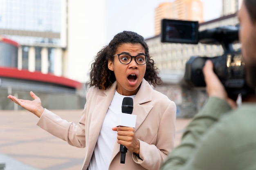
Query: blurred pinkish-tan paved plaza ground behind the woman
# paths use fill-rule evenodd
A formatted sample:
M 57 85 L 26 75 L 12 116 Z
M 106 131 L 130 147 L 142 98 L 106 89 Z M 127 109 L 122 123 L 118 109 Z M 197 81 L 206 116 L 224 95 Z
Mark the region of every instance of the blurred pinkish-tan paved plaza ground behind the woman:
M 77 121 L 82 110 L 55 110 L 68 121 Z M 36 126 L 38 117 L 26 110 L 0 110 L 0 164 L 4 170 L 80 170 L 84 148 L 68 145 Z M 177 119 L 176 145 L 190 119 Z

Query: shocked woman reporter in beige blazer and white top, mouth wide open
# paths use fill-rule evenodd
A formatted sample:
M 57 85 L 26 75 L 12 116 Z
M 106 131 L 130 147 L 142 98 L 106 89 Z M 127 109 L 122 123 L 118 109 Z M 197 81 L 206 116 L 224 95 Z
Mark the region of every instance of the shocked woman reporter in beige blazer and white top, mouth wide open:
M 40 117 L 41 128 L 72 146 L 85 147 L 82 170 L 158 170 L 174 146 L 176 117 L 174 102 L 150 86 L 160 83 L 144 38 L 124 31 L 95 57 L 77 125 L 43 108 L 33 92 L 33 101 L 8 98 Z M 124 97 L 133 98 L 135 128 L 114 127 Z M 125 163 L 120 163 L 120 144 L 128 149 Z

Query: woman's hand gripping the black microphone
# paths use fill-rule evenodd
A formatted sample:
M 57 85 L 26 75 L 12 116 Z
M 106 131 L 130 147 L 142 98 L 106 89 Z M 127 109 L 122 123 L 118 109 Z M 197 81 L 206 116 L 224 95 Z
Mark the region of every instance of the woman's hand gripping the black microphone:
M 127 150 L 139 154 L 139 140 L 135 137 L 134 128 L 118 126 L 112 128 L 117 131 L 117 143 L 124 145 Z

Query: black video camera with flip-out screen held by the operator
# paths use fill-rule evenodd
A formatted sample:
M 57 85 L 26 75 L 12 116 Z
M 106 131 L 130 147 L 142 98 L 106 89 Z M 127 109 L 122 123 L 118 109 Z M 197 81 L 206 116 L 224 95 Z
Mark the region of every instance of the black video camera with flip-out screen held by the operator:
M 225 86 L 229 97 L 236 99 L 238 94 L 254 93 L 245 81 L 245 64 L 241 49 L 235 51 L 232 44 L 238 42 L 239 25 L 220 26 L 214 29 L 198 31 L 197 21 L 168 20 L 161 21 L 161 42 L 187 44 L 220 44 L 224 50 L 221 56 L 192 56 L 186 62 L 184 80 L 190 88 L 205 87 L 202 68 L 206 60 L 213 62 L 213 70 Z

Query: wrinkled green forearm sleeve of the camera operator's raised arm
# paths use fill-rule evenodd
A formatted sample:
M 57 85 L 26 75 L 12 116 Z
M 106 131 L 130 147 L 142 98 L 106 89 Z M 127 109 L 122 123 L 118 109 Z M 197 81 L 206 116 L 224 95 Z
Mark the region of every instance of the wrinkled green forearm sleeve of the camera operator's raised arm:
M 196 115 L 184 130 L 182 141 L 167 157 L 161 170 L 179 170 L 189 159 L 194 157 L 197 144 L 220 117 L 231 110 L 231 107 L 222 99 L 210 97 L 201 112 Z

